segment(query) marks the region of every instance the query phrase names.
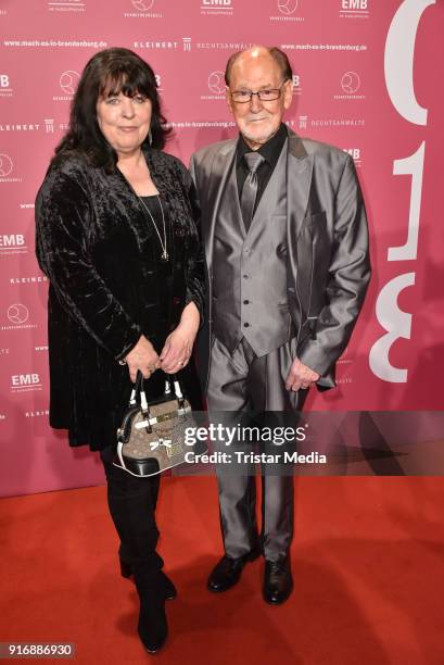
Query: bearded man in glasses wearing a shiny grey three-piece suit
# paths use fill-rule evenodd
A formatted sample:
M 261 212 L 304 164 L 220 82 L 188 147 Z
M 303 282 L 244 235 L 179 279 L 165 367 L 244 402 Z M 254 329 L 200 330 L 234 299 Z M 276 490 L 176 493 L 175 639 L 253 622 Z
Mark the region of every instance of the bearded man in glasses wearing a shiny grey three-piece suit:
M 226 84 L 239 139 L 191 160 L 208 273 L 208 410 L 301 411 L 312 386 L 334 387 L 335 361 L 363 305 L 370 277 L 363 197 L 348 154 L 282 124 L 293 93 L 283 52 L 236 53 Z M 293 478 L 263 469 L 262 480 L 259 538 L 254 476 L 218 469 L 225 555 L 208 589 L 229 589 L 263 553 L 263 595 L 279 604 L 293 587 Z

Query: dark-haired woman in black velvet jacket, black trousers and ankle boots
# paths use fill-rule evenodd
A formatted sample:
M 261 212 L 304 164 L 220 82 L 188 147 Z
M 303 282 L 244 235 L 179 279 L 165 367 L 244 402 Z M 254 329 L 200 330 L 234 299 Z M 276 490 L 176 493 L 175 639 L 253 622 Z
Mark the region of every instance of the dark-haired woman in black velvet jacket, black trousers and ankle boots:
M 100 450 L 150 652 L 166 639 L 164 604 L 176 589 L 155 551 L 158 476 L 112 464 L 116 430 L 139 369 L 152 398 L 164 372 L 179 373 L 199 406 L 190 355 L 203 306 L 192 183 L 161 151 L 164 122 L 152 68 L 127 49 L 97 53 L 36 201 L 37 258 L 50 279 L 50 423 L 71 446 Z

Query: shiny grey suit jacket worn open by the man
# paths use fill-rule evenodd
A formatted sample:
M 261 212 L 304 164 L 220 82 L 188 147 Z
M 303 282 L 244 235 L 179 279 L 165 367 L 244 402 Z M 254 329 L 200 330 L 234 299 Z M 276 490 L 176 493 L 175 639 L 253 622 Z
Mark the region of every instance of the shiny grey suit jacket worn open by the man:
M 212 325 L 214 228 L 237 140 L 213 143 L 191 158 L 201 209 L 207 267 L 206 321 L 198 342 L 206 386 Z M 370 279 L 368 228 L 352 158 L 289 129 L 287 165 L 287 292 L 297 330 L 297 357 L 334 387 L 335 362 L 345 349 Z M 267 266 L 264 266 L 264 271 Z

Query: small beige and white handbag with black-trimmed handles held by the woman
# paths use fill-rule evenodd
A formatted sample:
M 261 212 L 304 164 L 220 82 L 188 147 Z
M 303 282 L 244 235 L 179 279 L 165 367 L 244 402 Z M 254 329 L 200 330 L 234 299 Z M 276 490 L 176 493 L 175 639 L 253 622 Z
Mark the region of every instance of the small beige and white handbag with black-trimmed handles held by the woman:
M 113 461 L 132 476 L 155 476 L 168 468 L 191 461 L 198 454 L 185 442 L 188 427 L 196 424 L 191 405 L 185 398 L 176 375 L 165 375 L 165 392 L 148 401 L 144 379 L 139 371 L 128 409 L 117 429 L 117 453 Z M 199 454 L 206 452 L 206 446 Z

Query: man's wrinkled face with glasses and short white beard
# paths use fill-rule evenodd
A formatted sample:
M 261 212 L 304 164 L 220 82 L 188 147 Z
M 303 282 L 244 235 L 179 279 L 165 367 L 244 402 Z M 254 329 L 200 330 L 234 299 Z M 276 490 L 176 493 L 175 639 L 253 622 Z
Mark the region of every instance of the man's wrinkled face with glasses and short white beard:
M 232 92 L 244 92 L 248 98 L 249 92 L 278 89 L 279 97 L 272 101 L 264 101 L 253 95 L 250 101 L 236 102 L 231 96 Z M 253 150 L 261 148 L 278 131 L 292 96 L 292 80 L 283 80 L 278 63 L 269 53 L 255 49 L 242 53 L 234 61 L 227 87 L 227 103 L 240 133 Z

